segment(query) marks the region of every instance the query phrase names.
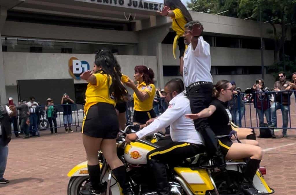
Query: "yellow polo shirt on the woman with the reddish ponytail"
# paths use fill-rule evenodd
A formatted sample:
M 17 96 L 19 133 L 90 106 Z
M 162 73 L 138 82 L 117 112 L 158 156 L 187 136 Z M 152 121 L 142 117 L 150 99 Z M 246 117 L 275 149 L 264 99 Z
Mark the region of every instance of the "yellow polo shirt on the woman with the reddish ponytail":
M 136 93 L 133 93 L 133 102 L 135 104 L 134 109 L 136 111 L 143 111 L 143 112 L 151 110 L 153 99 L 155 98 L 155 93 L 156 93 L 155 85 L 154 84 L 146 85 L 145 82 L 142 82 L 137 85 L 137 88 L 139 89 L 139 91 L 146 91 L 149 94 L 149 98 L 146 99 L 145 101 L 140 101 Z

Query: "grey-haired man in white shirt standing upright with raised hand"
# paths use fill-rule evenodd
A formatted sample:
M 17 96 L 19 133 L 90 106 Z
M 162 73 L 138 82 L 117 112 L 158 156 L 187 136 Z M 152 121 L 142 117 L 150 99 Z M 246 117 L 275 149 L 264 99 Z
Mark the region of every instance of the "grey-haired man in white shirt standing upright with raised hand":
M 202 31 L 203 27 L 199 21 L 191 21 L 185 25 L 184 42 L 188 49 L 185 52 L 182 73 L 191 111 L 194 114 L 209 107 L 213 91 L 210 45 L 203 40 Z M 207 153 L 212 157 L 214 165 L 225 166 L 218 139 L 215 138 L 207 118 L 194 120 L 194 125 L 202 134 Z

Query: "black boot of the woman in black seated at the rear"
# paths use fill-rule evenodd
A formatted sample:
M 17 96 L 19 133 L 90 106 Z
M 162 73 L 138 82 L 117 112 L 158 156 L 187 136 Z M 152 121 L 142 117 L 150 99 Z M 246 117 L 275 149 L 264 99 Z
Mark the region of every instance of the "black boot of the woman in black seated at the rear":
M 259 168 L 261 160 L 250 159 L 244 168 L 244 179 L 241 183 L 241 190 L 245 195 L 258 195 L 258 191 L 253 186 L 253 179 Z

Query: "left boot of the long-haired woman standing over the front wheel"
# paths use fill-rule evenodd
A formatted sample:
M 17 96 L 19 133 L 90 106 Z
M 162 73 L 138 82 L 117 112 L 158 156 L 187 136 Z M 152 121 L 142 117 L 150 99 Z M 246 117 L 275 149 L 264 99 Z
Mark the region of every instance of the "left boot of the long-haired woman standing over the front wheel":
M 100 165 L 87 165 L 89 171 L 90 188 L 79 191 L 81 195 L 98 195 L 101 194 L 100 183 Z

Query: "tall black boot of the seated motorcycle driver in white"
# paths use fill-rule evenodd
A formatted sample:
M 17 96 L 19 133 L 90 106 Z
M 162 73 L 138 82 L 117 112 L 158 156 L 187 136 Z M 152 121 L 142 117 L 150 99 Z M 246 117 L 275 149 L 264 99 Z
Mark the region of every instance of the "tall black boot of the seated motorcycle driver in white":
M 166 167 L 163 163 L 157 160 L 148 160 L 148 166 L 155 180 L 155 188 L 158 195 L 170 195 L 170 186 L 168 183 L 168 176 Z

